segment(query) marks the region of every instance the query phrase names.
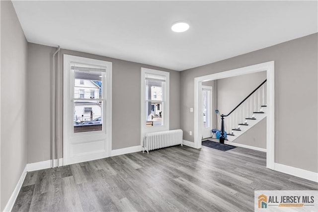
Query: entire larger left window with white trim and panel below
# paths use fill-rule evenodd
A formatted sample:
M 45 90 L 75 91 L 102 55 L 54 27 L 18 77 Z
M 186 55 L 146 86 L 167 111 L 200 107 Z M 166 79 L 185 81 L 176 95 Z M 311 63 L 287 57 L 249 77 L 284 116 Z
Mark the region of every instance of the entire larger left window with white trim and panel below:
M 112 151 L 112 63 L 64 54 L 63 64 L 63 163 L 108 157 Z

